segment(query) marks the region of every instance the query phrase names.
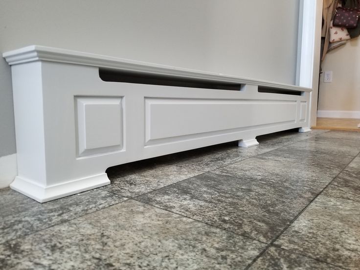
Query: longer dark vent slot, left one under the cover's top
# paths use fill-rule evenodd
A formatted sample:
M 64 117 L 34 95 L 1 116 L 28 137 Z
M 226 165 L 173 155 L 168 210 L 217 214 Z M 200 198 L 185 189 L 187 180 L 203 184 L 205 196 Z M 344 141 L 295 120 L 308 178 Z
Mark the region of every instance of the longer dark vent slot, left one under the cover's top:
M 205 81 L 200 79 L 180 78 L 165 75 L 140 74 L 124 71 L 99 69 L 100 79 L 105 82 L 166 85 L 191 88 L 219 89 L 219 90 L 240 90 L 240 84 Z

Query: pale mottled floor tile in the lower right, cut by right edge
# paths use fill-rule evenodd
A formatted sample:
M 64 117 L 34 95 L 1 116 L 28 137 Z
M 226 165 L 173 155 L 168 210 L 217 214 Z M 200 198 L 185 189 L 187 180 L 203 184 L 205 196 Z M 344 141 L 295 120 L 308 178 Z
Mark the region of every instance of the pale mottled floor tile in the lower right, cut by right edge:
M 320 195 L 275 242 L 339 267 L 360 266 L 360 203 Z

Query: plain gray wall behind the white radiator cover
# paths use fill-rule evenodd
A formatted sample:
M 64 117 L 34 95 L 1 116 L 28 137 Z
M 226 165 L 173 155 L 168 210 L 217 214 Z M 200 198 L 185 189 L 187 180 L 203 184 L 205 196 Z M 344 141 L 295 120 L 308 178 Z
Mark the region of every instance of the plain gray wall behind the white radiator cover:
M 295 83 L 299 0 L 0 0 L 0 52 L 45 45 Z M 16 152 L 0 60 L 0 157 Z

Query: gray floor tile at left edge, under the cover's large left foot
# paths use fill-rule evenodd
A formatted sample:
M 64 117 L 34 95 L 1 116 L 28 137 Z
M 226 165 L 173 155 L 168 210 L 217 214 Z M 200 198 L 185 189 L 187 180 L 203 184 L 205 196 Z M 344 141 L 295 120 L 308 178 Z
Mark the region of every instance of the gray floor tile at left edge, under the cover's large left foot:
M 0 243 L 125 201 L 93 189 L 47 203 L 38 203 L 10 188 L 0 189 Z

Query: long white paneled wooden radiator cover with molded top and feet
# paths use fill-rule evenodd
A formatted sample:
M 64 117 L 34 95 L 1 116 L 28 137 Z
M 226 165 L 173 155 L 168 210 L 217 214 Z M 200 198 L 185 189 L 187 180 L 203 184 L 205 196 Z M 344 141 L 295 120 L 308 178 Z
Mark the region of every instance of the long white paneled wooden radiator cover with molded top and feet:
M 110 166 L 233 140 L 248 147 L 258 135 L 309 123 L 309 88 L 43 46 L 3 56 L 12 66 L 17 141 L 11 187 L 38 202 L 109 184 Z M 104 82 L 99 67 L 241 88 Z

